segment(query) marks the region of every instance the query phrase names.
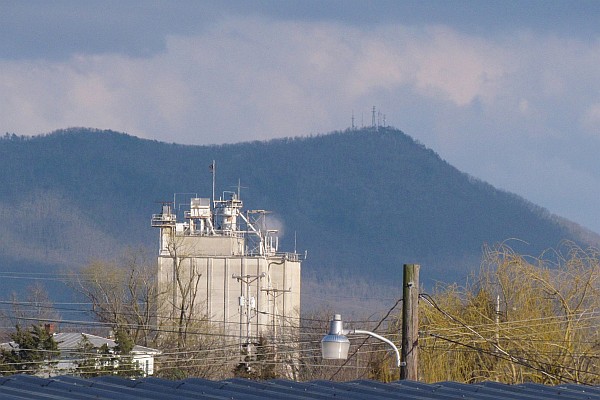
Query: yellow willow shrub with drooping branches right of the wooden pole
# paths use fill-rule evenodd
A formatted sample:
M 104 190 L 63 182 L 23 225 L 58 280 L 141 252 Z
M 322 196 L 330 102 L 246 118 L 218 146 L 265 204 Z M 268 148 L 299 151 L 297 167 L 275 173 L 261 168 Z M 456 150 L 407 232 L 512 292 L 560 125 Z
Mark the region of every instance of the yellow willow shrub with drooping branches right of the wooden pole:
M 600 382 L 596 249 L 486 248 L 478 275 L 422 296 L 419 309 L 425 381 Z

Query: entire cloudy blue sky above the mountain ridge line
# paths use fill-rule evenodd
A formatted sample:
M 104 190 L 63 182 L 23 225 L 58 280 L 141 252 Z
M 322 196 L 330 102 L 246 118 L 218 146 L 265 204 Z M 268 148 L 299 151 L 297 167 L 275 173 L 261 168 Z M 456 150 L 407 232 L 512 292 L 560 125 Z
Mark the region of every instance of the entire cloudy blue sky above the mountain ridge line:
M 0 0 L 2 133 L 236 143 L 372 107 L 600 233 L 600 1 Z

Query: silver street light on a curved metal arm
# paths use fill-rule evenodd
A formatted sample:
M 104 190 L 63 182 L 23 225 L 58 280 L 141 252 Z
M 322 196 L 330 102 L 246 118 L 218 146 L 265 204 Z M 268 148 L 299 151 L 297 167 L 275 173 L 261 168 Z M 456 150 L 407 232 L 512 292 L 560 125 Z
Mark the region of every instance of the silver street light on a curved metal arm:
M 349 334 L 365 334 L 373 336 L 390 346 L 396 353 L 396 363 L 400 367 L 403 363 L 400 362 L 400 352 L 391 340 L 384 338 L 376 333 L 363 331 L 359 329 L 344 329 L 344 322 L 340 314 L 335 314 L 329 323 L 329 333 L 321 339 L 321 355 L 326 360 L 345 360 L 348 358 L 348 350 L 350 349 L 350 341 L 346 337 Z

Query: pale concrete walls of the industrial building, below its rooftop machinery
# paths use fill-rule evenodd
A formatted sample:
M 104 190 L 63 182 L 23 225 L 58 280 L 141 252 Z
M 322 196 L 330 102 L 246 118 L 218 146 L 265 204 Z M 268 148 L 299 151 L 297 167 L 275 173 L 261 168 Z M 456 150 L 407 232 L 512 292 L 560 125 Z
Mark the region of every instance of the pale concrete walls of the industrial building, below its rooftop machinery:
M 159 313 L 171 315 L 173 301 L 181 300 L 180 290 L 174 285 L 177 270 L 182 282 L 193 280 L 198 284 L 194 318 L 207 316 L 225 335 L 235 340 L 241 336 L 245 341 L 247 308 L 240 307 L 239 298 L 254 297 L 256 309 L 250 313 L 251 335 L 255 337 L 260 333 L 270 336 L 273 330 L 279 337 L 282 334 L 289 335 L 299 323 L 300 262 L 285 260 L 281 263 L 281 256 L 204 255 L 213 251 L 227 252 L 231 249 L 230 245 L 237 244 L 236 240 L 232 240 L 234 238 L 225 239 L 202 241 L 202 244 L 215 244 L 203 251 L 190 251 L 190 246 L 197 245 L 198 241 L 183 242 L 179 254 L 185 250 L 193 256 L 180 257 L 176 263 L 170 256 L 159 257 L 158 282 L 159 291 L 163 293 Z M 263 273 L 265 276 L 258 278 Z

